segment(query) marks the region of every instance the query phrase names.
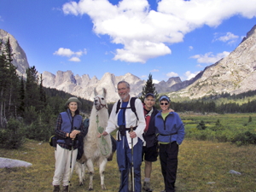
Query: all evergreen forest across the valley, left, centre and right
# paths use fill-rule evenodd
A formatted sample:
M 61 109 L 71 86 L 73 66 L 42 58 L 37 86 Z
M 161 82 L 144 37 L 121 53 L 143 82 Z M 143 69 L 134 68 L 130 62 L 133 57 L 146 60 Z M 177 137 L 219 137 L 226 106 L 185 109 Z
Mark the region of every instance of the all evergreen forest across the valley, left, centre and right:
M 42 74 L 36 67 L 26 69 L 26 77 L 16 73 L 12 64 L 14 54 L 9 39 L 0 39 L 0 147 L 19 148 L 26 139 L 48 141 L 54 134 L 57 115 L 65 111 L 64 103 L 72 96 L 64 91 L 45 88 Z M 142 90 L 143 101 L 148 92 L 159 94 L 154 88 L 152 75 Z M 223 93 L 205 96 L 198 100 L 171 98 L 176 112 L 195 113 L 256 113 L 256 90 L 238 95 Z M 92 102 L 79 98 L 82 102 L 80 113 L 88 115 Z M 108 103 L 110 112 L 113 103 Z M 156 107 L 159 108 L 158 102 Z M 87 117 L 87 116 L 86 116 Z

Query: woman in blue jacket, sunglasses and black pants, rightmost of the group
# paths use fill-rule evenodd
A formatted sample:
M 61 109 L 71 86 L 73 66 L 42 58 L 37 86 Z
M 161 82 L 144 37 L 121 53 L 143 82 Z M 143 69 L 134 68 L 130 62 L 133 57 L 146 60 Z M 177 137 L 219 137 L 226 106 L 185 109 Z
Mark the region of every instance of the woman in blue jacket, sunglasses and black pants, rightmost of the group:
M 154 125 L 160 143 L 160 164 L 165 181 L 165 190 L 173 192 L 177 175 L 178 146 L 185 135 L 183 122 L 175 112 L 169 112 L 171 100 L 168 96 L 160 96 L 161 111 L 156 114 Z

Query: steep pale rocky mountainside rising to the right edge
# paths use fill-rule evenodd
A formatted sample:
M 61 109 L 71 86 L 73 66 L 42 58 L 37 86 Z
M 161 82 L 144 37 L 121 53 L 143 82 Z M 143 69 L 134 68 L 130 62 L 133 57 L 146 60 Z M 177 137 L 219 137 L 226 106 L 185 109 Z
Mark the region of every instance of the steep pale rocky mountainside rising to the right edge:
M 198 98 L 222 92 L 238 94 L 256 89 L 256 26 L 241 44 L 210 67 L 198 74 L 195 82 L 177 92 L 180 96 Z M 174 86 L 177 86 L 175 84 Z M 170 95 L 173 95 L 170 94 Z

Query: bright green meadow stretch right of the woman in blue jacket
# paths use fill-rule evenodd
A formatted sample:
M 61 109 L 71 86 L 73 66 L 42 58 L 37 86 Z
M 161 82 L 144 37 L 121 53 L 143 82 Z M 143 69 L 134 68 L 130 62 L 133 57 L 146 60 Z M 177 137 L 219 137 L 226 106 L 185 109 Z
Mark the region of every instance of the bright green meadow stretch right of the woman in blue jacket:
M 213 142 L 233 142 L 237 145 L 252 143 L 252 138 L 256 143 L 256 113 L 235 113 L 217 114 L 211 113 L 202 115 L 199 113 L 180 113 L 185 125 L 186 137 L 198 140 L 208 140 Z M 251 117 L 251 122 L 249 122 Z M 199 131 L 196 126 L 203 120 L 207 129 Z M 221 126 L 216 126 L 219 120 Z M 244 136 L 249 131 L 252 137 Z

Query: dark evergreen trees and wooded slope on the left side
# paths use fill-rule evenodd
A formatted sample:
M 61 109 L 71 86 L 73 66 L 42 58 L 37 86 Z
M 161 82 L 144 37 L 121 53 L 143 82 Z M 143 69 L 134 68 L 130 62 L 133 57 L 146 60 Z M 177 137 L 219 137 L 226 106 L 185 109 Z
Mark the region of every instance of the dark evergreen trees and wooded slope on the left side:
M 26 69 L 26 77 L 16 73 L 9 38 L 0 39 L 0 145 L 18 148 L 24 139 L 47 141 L 53 134 L 57 115 L 65 111 L 64 91 L 45 88 L 36 67 Z M 92 102 L 79 98 L 80 111 L 90 113 Z

